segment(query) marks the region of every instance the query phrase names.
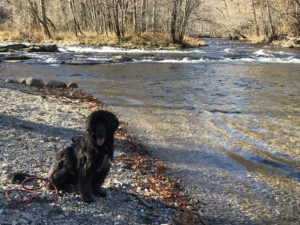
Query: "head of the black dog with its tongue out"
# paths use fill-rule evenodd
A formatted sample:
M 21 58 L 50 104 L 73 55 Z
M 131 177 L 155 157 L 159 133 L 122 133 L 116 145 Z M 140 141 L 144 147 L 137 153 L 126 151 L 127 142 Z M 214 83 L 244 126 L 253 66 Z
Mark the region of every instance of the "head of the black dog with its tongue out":
M 87 118 L 87 132 L 90 137 L 102 146 L 108 138 L 112 138 L 119 126 L 117 117 L 108 111 L 97 110 Z

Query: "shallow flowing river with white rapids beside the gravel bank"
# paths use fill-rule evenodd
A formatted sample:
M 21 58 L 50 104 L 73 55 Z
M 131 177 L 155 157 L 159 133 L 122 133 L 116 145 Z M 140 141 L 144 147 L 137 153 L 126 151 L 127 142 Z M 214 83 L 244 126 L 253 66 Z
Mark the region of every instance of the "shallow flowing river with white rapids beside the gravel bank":
M 75 81 L 99 96 L 212 224 L 299 224 L 300 51 L 207 41 L 187 51 L 60 46 L 2 62 L 0 74 Z

